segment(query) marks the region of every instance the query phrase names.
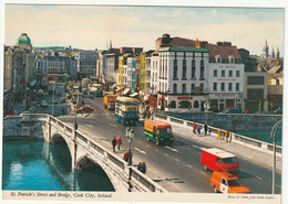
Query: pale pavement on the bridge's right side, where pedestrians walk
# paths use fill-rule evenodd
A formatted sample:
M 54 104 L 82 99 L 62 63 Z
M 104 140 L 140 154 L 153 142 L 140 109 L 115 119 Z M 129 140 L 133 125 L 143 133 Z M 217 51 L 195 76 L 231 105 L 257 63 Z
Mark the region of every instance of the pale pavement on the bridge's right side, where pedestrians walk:
M 214 136 L 204 136 L 203 132 L 200 136 L 195 135 L 192 131 L 192 128 L 188 127 L 179 127 L 177 125 L 172 125 L 173 132 L 181 135 L 184 138 L 196 140 L 199 143 L 205 143 L 206 146 L 210 146 L 214 148 L 219 148 L 226 150 L 235 155 L 244 157 L 247 160 L 261 164 L 266 168 L 272 169 L 274 157 L 270 153 L 257 151 L 249 147 L 245 147 L 234 142 L 226 142 L 225 140 L 218 140 Z M 282 170 L 282 158 L 276 157 L 276 171 L 281 172 Z

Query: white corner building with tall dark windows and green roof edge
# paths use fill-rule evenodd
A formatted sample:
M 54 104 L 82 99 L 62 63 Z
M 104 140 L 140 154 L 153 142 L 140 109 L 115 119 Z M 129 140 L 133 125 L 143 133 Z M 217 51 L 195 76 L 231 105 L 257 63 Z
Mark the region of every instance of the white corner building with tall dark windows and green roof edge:
M 160 108 L 203 110 L 208 96 L 208 50 L 166 46 L 158 50 L 158 60 Z

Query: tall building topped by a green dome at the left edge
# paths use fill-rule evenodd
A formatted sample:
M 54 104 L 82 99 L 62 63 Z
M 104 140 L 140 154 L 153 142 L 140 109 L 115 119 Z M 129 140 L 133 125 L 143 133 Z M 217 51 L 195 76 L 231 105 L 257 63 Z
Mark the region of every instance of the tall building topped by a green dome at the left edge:
M 14 46 L 7 46 L 4 52 L 4 114 L 10 112 L 13 101 L 23 100 L 29 107 L 30 93 L 34 89 L 35 61 L 31 40 L 22 33 Z M 29 92 L 27 92 L 29 88 Z

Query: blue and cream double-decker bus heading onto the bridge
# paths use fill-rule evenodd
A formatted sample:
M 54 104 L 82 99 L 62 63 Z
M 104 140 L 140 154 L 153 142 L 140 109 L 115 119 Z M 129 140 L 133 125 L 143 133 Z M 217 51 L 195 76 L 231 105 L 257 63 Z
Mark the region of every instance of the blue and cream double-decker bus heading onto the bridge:
M 138 124 L 138 100 L 130 97 L 117 97 L 115 119 L 124 125 Z

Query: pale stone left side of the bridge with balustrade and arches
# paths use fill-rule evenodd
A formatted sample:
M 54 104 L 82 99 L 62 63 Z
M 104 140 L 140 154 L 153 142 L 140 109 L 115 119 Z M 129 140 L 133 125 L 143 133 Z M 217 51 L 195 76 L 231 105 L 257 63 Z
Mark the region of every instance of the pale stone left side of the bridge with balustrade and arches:
M 102 147 L 95 139 L 80 130 L 74 130 L 58 118 L 50 115 L 23 114 L 22 117 L 18 117 L 18 120 L 27 125 L 44 122 L 44 128 L 42 127 L 44 140 L 52 142 L 53 136 L 62 136 L 71 153 L 72 168 L 80 169 L 80 161 L 83 158 L 94 161 L 105 171 L 116 192 L 167 192 L 136 168 L 128 165 L 126 161 Z

